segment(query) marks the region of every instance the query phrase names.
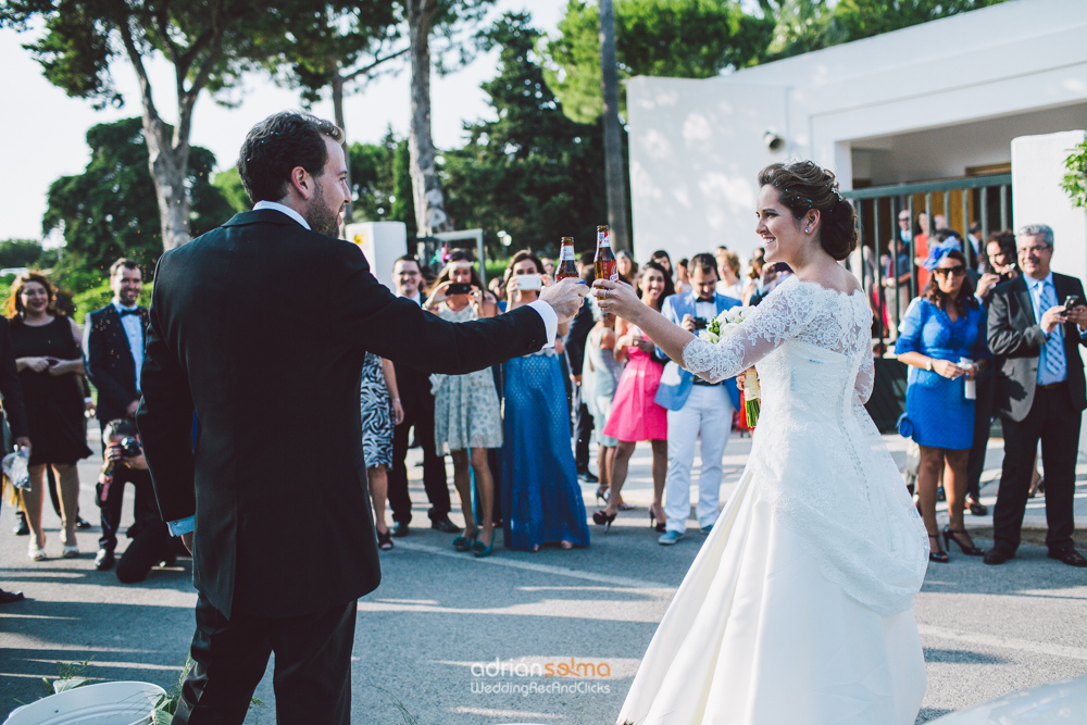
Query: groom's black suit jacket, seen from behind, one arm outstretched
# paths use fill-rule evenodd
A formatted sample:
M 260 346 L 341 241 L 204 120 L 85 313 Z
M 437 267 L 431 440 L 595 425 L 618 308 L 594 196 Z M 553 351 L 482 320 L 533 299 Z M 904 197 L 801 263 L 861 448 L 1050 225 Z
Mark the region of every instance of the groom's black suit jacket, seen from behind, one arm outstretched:
M 535 310 L 443 322 L 393 297 L 354 245 L 273 210 L 166 252 L 154 277 L 137 423 L 162 517 L 196 515 L 193 583 L 227 617 L 313 613 L 380 582 L 366 351 L 464 374 L 546 342 Z

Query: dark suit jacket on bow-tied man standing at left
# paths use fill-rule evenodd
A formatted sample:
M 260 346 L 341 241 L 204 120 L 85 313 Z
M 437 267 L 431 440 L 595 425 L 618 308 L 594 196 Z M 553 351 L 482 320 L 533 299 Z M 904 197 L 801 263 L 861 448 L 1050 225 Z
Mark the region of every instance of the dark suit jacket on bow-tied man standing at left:
M 146 342 L 148 313 L 143 308 L 137 308 L 137 312 Z M 87 377 L 98 388 L 98 420 L 109 423 L 127 417 L 128 405 L 139 399 L 136 361 L 121 324 L 121 313 L 112 302 L 87 315 L 83 337 Z

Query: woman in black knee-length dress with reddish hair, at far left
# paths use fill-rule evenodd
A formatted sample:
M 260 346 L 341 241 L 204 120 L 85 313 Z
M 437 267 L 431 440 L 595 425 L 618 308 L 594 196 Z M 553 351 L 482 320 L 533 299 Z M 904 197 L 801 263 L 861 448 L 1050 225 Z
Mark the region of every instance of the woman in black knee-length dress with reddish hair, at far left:
M 30 490 L 21 500 L 30 527 L 28 555 L 42 561 L 46 535 L 41 529 L 41 505 L 46 466 L 57 475 L 64 529 L 62 554 L 79 555 L 75 539 L 79 472 L 76 462 L 91 454 L 84 427 L 84 395 L 80 386 L 83 330 L 75 321 L 54 314 L 53 287 L 37 272 L 15 278 L 8 310 L 11 316 L 12 353 L 26 399 L 30 427 Z

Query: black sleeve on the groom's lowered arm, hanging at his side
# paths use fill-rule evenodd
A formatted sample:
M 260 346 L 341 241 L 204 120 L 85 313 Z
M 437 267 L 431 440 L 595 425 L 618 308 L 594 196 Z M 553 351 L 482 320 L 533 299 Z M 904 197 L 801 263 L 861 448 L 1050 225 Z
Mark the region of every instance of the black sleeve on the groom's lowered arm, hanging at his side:
M 163 268 L 163 258 L 159 271 Z M 158 272 L 157 272 L 158 276 Z M 141 382 L 143 398 L 136 424 L 151 473 L 154 496 L 163 521 L 178 521 L 196 513 L 192 457 L 192 396 L 189 382 L 164 338 L 157 288 L 147 327 Z

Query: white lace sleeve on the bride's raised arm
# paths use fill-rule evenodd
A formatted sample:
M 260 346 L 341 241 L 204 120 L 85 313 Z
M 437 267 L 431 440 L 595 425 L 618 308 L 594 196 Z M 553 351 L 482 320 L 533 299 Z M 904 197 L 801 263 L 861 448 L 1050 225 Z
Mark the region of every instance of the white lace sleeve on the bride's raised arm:
M 683 349 L 684 367 L 712 383 L 734 377 L 796 337 L 814 314 L 811 286 L 784 284 L 720 342 L 698 338 L 688 342 Z

